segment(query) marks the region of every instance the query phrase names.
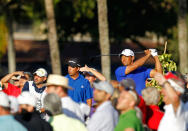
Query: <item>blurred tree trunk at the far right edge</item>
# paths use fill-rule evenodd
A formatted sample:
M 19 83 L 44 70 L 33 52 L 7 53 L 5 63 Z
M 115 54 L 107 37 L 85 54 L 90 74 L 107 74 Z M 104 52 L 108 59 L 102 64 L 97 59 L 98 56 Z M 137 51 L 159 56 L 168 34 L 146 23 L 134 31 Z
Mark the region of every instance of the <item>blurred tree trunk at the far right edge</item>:
M 188 44 L 187 44 L 187 2 L 186 0 L 178 0 L 178 44 L 181 73 L 188 73 Z

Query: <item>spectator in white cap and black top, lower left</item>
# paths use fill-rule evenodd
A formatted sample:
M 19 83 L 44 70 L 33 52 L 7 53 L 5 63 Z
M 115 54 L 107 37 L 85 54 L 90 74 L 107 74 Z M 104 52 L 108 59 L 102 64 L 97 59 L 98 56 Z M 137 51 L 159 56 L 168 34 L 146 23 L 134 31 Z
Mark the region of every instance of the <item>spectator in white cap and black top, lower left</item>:
M 29 131 L 52 131 L 52 127 L 40 114 L 35 111 L 36 98 L 29 92 L 24 91 L 18 97 L 19 112 L 15 119 L 25 125 Z

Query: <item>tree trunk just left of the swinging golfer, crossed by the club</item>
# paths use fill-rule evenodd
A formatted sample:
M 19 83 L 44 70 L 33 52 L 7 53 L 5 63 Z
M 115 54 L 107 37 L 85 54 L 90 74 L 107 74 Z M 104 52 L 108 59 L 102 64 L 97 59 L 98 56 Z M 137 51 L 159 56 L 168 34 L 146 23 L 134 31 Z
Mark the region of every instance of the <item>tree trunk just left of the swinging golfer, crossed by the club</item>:
M 98 4 L 98 29 L 99 29 L 99 42 L 101 54 L 108 55 L 110 54 L 110 43 L 109 43 L 109 34 L 108 34 L 108 9 L 107 9 L 107 0 L 97 0 Z M 101 57 L 102 65 L 102 74 L 106 77 L 107 80 L 110 80 L 111 77 L 111 64 L 110 56 Z

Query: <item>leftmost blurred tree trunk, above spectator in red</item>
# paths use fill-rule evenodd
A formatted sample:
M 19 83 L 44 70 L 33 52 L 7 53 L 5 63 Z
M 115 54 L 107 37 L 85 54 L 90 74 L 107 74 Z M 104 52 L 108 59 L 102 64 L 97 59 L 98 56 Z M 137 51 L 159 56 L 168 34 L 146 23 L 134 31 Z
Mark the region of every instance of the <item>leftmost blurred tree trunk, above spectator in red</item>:
M 16 53 L 14 48 L 12 12 L 9 10 L 6 14 L 6 24 L 8 29 L 8 72 L 16 71 Z

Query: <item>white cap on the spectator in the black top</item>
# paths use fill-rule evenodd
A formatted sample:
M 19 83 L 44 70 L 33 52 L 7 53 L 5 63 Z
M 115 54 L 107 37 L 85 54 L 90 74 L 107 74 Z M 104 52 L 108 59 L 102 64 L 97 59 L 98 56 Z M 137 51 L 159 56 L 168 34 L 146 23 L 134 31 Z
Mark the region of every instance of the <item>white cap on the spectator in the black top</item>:
M 24 91 L 18 96 L 18 103 L 19 104 L 27 104 L 27 105 L 31 105 L 31 106 L 35 107 L 36 106 L 36 98 L 28 91 Z

